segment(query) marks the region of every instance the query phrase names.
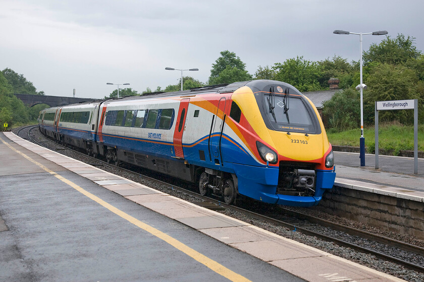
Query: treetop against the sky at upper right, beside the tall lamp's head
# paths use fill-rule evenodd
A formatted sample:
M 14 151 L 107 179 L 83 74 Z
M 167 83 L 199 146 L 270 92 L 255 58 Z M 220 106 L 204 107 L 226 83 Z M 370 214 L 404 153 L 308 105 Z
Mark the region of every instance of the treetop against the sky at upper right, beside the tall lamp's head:
M 372 44 L 369 50 L 363 53 L 364 64 L 369 62 L 406 63 L 410 58 L 418 58 L 421 54 L 415 47 L 415 38 L 398 34 L 395 39 L 387 36 L 380 44 Z

